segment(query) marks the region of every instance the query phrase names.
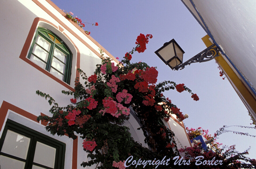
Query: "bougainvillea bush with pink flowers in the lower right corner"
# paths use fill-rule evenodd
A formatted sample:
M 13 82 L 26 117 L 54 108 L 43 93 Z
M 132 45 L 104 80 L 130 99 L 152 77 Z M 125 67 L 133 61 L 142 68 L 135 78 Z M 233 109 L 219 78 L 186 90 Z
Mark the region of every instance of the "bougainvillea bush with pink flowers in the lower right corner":
M 242 126 L 238 126 L 238 127 L 242 127 Z M 216 131 L 216 133 L 214 134 L 214 136 L 212 136 L 211 134 L 208 134 L 208 130 L 204 130 L 201 127 L 198 127 L 196 129 L 194 128 L 188 128 L 186 127 L 186 131 L 188 133 L 188 137 L 190 140 L 192 140 L 193 138 L 196 138 L 199 135 L 202 135 L 204 138 L 206 138 L 207 140 L 213 138 L 213 142 L 211 142 L 211 145 L 213 147 L 213 149 L 211 150 L 210 148 L 208 148 L 207 151 L 205 151 L 204 149 L 202 149 L 202 147 L 200 146 L 200 144 L 194 144 L 193 147 L 186 147 L 186 148 L 182 148 L 179 151 L 181 153 L 185 154 L 184 159 L 188 160 L 190 159 L 192 161 L 191 165 L 189 165 L 192 168 L 198 168 L 199 169 L 254 169 L 256 167 L 256 160 L 255 159 L 250 159 L 248 157 L 246 157 L 246 155 L 248 154 L 248 150 L 245 150 L 244 152 L 240 153 L 236 150 L 236 146 L 223 146 L 223 148 L 220 148 L 220 145 L 222 145 L 222 143 L 216 142 L 216 137 L 219 136 L 220 134 L 223 134 L 225 132 L 225 128 L 227 128 L 227 126 L 224 126 L 222 128 L 220 128 L 219 131 Z M 248 128 L 248 127 L 246 127 Z M 253 127 L 250 127 L 253 128 Z M 254 128 L 255 129 L 255 128 Z M 230 132 L 236 132 L 236 131 L 230 131 Z M 244 133 L 236 133 L 236 134 L 241 134 L 241 135 L 248 135 L 248 136 L 252 136 L 255 137 L 253 135 L 249 135 L 249 134 L 244 134 Z M 195 165 L 195 158 L 198 156 L 203 156 L 204 160 L 207 161 L 211 161 L 213 158 L 215 158 L 215 161 L 223 161 L 222 165 L 199 165 L 196 166 Z

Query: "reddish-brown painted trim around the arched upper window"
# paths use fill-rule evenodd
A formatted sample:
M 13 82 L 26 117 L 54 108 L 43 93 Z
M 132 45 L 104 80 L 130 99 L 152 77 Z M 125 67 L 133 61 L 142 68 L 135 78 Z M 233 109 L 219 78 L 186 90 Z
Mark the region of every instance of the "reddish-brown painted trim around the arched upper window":
M 36 65 L 34 62 L 32 62 L 30 59 L 27 58 L 27 54 L 28 54 L 28 51 L 29 51 L 29 47 L 30 47 L 30 44 L 31 42 L 33 41 L 33 38 L 34 38 L 34 34 L 36 32 L 36 28 L 37 28 L 37 25 L 40 21 L 43 21 L 45 23 L 48 23 L 54 27 L 56 27 L 56 29 L 58 29 L 58 27 L 56 25 L 54 25 L 53 23 L 49 22 L 48 20 L 46 19 L 43 19 L 43 18 L 35 18 L 33 23 L 32 23 L 32 26 L 30 28 L 30 31 L 28 33 L 28 37 L 24 43 L 24 46 L 21 50 L 21 53 L 20 53 L 20 58 L 22 60 L 24 60 L 25 62 L 27 62 L 29 65 L 32 65 L 33 67 L 35 67 L 36 69 L 38 69 L 40 72 L 46 74 L 48 77 L 51 77 L 53 80 L 57 81 L 58 83 L 62 84 L 64 87 L 68 88 L 69 90 L 71 91 L 75 91 L 74 88 L 72 88 L 69 84 L 65 83 L 64 81 L 61 81 L 60 79 L 58 79 L 57 77 L 55 77 L 54 75 L 52 75 L 50 72 L 48 72 L 47 70 L 41 68 L 39 65 Z M 68 37 L 67 37 L 68 38 Z M 70 40 L 70 38 L 69 38 Z M 72 42 L 72 41 L 71 41 Z M 74 43 L 73 43 L 74 44 Z M 76 47 L 76 46 L 75 46 Z M 77 60 L 80 61 L 80 52 L 79 50 L 77 49 L 76 47 L 76 50 L 78 51 L 77 52 Z M 79 58 L 78 58 L 79 57 Z M 80 65 L 80 62 L 79 62 L 79 65 Z M 76 73 L 76 77 L 79 76 L 79 73 Z

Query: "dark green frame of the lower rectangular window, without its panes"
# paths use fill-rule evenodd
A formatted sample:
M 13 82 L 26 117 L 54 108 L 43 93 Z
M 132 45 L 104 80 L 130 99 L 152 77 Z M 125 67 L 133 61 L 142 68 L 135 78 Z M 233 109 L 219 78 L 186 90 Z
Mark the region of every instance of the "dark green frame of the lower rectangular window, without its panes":
M 18 134 L 24 135 L 25 137 L 30 138 L 29 146 L 28 146 L 28 154 L 26 159 L 22 159 L 20 157 L 16 157 L 10 154 L 6 154 L 1 152 L 4 139 L 6 137 L 7 131 L 13 131 Z M 53 148 L 56 148 L 56 155 L 55 155 L 55 162 L 54 162 L 54 168 L 53 169 L 64 169 L 64 160 L 65 160 L 65 150 L 66 150 L 66 144 L 63 142 L 60 142 L 54 138 L 51 138 L 47 135 L 44 135 L 38 131 L 32 130 L 31 128 L 25 127 L 19 123 L 16 123 L 10 119 L 7 120 L 6 125 L 4 127 L 3 134 L 0 138 L 0 155 L 3 155 L 4 157 L 10 157 L 15 160 L 23 161 L 25 162 L 24 169 L 31 169 L 32 165 L 36 165 L 39 167 L 44 167 L 46 169 L 52 169 L 50 167 L 40 165 L 38 163 L 33 162 L 35 150 L 36 150 L 36 142 L 43 143 L 47 146 L 51 146 Z

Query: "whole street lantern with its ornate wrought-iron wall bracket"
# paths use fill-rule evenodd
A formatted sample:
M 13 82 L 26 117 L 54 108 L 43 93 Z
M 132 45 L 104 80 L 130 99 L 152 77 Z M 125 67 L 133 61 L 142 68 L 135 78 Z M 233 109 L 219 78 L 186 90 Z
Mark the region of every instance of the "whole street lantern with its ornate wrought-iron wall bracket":
M 172 39 L 170 42 L 164 43 L 164 46 L 156 50 L 156 55 L 164 61 L 164 63 L 172 70 L 184 69 L 185 65 L 190 65 L 195 62 L 210 61 L 219 56 L 220 49 L 212 44 L 193 58 L 183 63 L 183 54 L 185 53 L 178 43 Z

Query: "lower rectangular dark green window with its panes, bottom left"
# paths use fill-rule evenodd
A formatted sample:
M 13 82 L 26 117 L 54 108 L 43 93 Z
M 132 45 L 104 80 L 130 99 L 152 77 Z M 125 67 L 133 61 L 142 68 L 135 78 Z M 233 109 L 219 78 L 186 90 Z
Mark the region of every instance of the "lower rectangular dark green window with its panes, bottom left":
M 0 169 L 64 169 L 65 146 L 8 120 L 0 139 Z

